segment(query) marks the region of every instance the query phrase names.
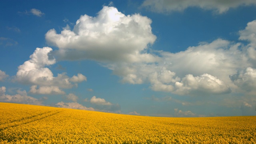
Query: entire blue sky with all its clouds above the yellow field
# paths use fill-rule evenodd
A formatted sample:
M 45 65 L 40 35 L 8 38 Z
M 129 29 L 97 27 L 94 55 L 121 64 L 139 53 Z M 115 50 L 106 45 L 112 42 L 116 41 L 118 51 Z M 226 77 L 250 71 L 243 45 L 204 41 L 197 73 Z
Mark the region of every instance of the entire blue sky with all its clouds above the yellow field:
M 255 0 L 1 0 L 0 102 L 256 115 Z

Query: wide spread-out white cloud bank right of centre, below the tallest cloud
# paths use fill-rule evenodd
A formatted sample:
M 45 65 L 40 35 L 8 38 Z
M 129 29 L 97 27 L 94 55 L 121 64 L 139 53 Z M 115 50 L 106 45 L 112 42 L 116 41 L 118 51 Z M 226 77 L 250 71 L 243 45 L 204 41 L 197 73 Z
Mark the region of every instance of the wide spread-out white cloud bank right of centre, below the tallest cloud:
M 251 65 L 246 50 L 240 50 L 242 46 L 217 39 L 177 53 L 156 51 L 161 58 L 156 63 L 115 63 L 108 68 L 121 76 L 122 82 L 150 82 L 154 91 L 225 94 L 236 88 L 229 76 Z

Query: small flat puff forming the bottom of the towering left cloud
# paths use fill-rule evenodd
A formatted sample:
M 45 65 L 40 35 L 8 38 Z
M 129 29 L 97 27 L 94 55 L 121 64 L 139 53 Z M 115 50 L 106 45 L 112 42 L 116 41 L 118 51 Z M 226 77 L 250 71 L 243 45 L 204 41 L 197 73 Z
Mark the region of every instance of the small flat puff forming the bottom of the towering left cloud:
M 32 94 L 65 94 L 58 86 L 40 86 L 38 89 L 36 88 L 37 85 L 31 86 L 29 92 Z

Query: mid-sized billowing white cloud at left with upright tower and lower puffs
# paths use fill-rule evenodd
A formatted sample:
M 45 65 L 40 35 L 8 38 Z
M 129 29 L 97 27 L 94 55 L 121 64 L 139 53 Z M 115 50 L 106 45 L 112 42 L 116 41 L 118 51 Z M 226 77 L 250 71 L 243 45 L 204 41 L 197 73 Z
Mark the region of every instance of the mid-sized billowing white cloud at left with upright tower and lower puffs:
M 52 48 L 36 48 L 30 55 L 30 60 L 18 67 L 15 80 L 23 84 L 32 84 L 30 92 L 34 94 L 64 94 L 60 88 L 72 88 L 77 82 L 86 81 L 82 74 L 69 78 L 66 73 L 53 76 L 52 71 L 46 66 L 56 63 L 55 58 L 50 57 Z M 71 83 L 74 82 L 74 83 Z M 38 89 L 37 85 L 39 86 Z

